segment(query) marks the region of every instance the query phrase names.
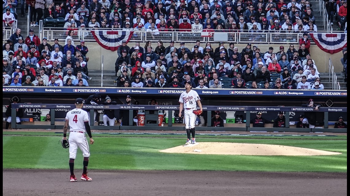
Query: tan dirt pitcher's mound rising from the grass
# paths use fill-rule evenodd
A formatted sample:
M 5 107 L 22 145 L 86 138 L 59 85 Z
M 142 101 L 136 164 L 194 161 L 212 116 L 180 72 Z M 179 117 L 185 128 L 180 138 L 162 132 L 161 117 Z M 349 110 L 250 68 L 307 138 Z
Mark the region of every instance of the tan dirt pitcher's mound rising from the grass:
M 196 150 L 196 151 L 194 151 Z M 200 152 L 198 152 L 200 151 Z M 200 142 L 195 146 L 176 146 L 160 152 L 168 153 L 190 153 L 190 154 L 235 154 L 235 155 L 285 155 L 285 156 L 314 156 L 333 155 L 339 152 L 329 152 L 308 148 L 292 146 L 270 145 L 270 144 L 242 144 L 226 142 Z

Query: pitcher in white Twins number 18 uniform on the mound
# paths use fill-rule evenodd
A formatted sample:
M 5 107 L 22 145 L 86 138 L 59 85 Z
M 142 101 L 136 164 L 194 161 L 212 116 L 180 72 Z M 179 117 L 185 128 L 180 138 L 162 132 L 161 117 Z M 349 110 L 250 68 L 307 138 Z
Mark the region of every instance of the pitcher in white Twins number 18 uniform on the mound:
M 198 103 L 198 106 L 200 107 L 200 110 L 202 109 L 202 103 L 201 99 L 198 96 L 198 93 L 194 90 L 192 90 L 191 81 L 187 81 L 185 83 L 185 89 L 186 91 L 181 93 L 179 102 L 180 102 L 180 111 L 179 111 L 179 117 L 181 117 L 181 112 L 184 110 L 184 119 L 185 119 L 185 125 L 186 125 L 186 132 L 187 132 L 187 141 L 185 145 L 188 144 L 195 144 L 196 138 L 195 138 L 195 121 L 196 121 L 196 115 L 193 113 L 194 110 L 196 110 L 196 105 Z M 192 140 L 191 140 L 191 134 L 192 134 Z

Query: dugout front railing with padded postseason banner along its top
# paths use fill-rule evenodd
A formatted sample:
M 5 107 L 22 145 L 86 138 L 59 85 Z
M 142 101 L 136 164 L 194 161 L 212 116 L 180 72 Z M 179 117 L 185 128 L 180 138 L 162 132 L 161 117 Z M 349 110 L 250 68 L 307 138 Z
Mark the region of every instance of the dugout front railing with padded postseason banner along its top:
M 41 108 L 49 109 L 51 114 L 50 125 L 16 125 L 16 110 L 25 108 Z M 12 128 L 22 128 L 22 129 L 62 129 L 63 125 L 55 125 L 55 109 L 66 109 L 67 111 L 75 108 L 72 104 L 12 104 L 11 116 Z M 207 111 L 207 127 L 196 127 L 198 131 L 267 131 L 267 132 L 333 132 L 333 133 L 347 133 L 347 129 L 335 129 L 328 127 L 328 112 L 347 112 L 346 107 L 340 108 L 329 108 L 321 107 L 318 111 L 315 108 L 309 107 L 266 107 L 266 106 L 203 106 L 204 111 Z M 95 110 L 129 110 L 129 125 L 133 124 L 133 110 L 138 111 L 168 111 L 168 116 L 173 116 L 173 111 L 178 111 L 179 106 L 158 106 L 158 105 L 84 105 L 83 109 L 90 110 L 90 113 L 94 113 Z M 197 109 L 199 109 L 197 107 Z M 242 125 L 240 127 L 211 127 L 211 114 L 212 111 L 247 111 L 245 112 L 245 125 L 244 123 L 237 123 Z M 258 111 L 261 112 L 284 112 L 286 117 L 286 127 L 285 128 L 272 128 L 272 127 L 250 127 L 250 119 L 253 118 L 251 114 Z M 249 112 L 248 112 L 249 111 Z M 324 119 L 324 128 L 290 128 L 289 126 L 289 114 L 290 112 L 316 112 L 322 115 Z M 144 113 L 145 114 L 145 113 Z M 320 116 L 321 117 L 321 116 Z M 184 126 L 172 126 L 172 120 L 168 120 L 168 126 L 95 126 L 93 115 L 90 115 L 90 126 L 91 129 L 97 130 L 185 130 Z M 147 115 L 144 116 L 144 122 L 147 120 Z M 33 123 L 34 124 L 34 123 Z M 236 125 L 237 125 L 236 124 Z M 152 124 L 157 125 L 157 124 Z

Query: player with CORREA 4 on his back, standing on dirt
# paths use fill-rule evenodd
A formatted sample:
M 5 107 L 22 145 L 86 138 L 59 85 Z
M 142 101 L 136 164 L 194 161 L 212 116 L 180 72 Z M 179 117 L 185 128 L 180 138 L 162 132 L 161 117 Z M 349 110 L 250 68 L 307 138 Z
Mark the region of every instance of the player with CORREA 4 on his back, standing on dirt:
M 87 143 L 85 133 L 90 137 L 90 144 L 93 144 L 91 136 L 91 130 L 89 126 L 89 118 L 87 112 L 82 110 L 84 99 L 77 98 L 75 100 L 75 109 L 67 112 L 65 117 L 65 123 L 63 127 L 63 139 L 67 138 L 67 127 L 69 125 L 69 169 L 70 169 L 70 181 L 76 182 L 77 179 L 74 175 L 74 159 L 77 155 L 77 149 L 83 153 L 83 174 L 80 179 L 91 181 L 92 179 L 87 176 L 87 164 L 89 164 L 89 144 Z

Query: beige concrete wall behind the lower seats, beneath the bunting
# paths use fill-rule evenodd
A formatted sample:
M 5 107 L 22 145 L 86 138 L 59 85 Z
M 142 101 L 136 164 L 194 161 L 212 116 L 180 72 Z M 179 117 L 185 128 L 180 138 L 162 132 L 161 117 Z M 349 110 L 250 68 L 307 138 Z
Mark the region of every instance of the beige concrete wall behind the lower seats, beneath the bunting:
M 49 43 L 52 44 L 52 43 Z M 62 43 L 60 43 L 62 44 Z M 134 46 L 135 43 L 130 42 L 127 45 L 131 48 Z M 202 44 L 202 47 L 205 44 Z M 285 51 L 289 48 L 289 43 L 287 44 L 252 44 L 256 45 L 260 48 L 261 52 L 268 51 L 268 47 L 272 46 L 274 48 L 274 52 L 279 51 L 279 47 L 282 45 L 285 47 Z M 89 56 L 90 60 L 88 62 L 89 69 L 90 70 L 101 70 L 102 69 L 102 59 L 103 59 L 103 69 L 104 70 L 114 70 L 114 63 L 116 62 L 118 55 L 117 51 L 110 51 L 106 50 L 100 45 L 98 45 L 96 42 L 85 42 L 85 46 L 89 48 L 89 53 L 87 53 L 87 56 Z M 141 43 L 141 46 L 144 47 L 144 43 Z M 156 46 L 156 43 L 154 43 L 154 47 Z M 167 43 L 165 43 L 165 47 L 167 47 Z M 179 43 L 176 43 L 175 46 L 179 46 Z M 185 45 L 188 48 L 193 48 L 194 44 L 186 43 Z M 212 44 L 213 48 L 216 48 L 218 44 Z M 236 47 L 238 47 L 238 51 L 241 52 L 241 50 L 246 47 L 246 44 L 235 44 Z M 296 49 L 299 49 L 299 44 L 294 44 Z M 225 48 L 229 48 L 229 44 L 225 44 Z M 339 73 L 343 71 L 343 66 L 340 62 L 340 59 L 343 58 L 342 52 L 338 52 L 336 54 L 329 54 L 326 52 L 323 52 L 320 48 L 318 48 L 317 45 L 311 45 L 310 47 L 310 54 L 311 58 L 315 61 L 317 69 L 320 73 L 328 73 L 328 64 L 329 64 L 329 58 L 331 58 L 332 63 L 334 65 L 335 72 Z

